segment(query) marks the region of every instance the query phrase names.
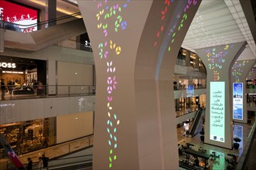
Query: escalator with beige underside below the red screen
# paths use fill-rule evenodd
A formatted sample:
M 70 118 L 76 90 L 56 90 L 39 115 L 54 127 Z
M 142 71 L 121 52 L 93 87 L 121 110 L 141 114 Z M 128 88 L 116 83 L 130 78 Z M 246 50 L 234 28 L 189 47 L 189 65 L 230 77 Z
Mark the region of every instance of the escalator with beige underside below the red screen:
M 73 15 L 71 15 L 73 17 Z M 74 18 L 74 17 L 73 17 Z M 57 20 L 56 20 L 57 21 Z M 38 27 L 43 27 L 53 21 L 40 22 Z M 46 29 L 39 29 L 34 32 L 19 32 L 16 29 L 14 31 L 12 28 L 17 28 L 14 26 L 9 26 L 10 23 L 5 22 L 2 24 L 4 29 L 4 46 L 5 48 L 11 49 L 23 49 L 29 51 L 37 51 L 43 49 L 47 46 L 52 46 L 53 44 L 63 42 L 64 40 L 70 39 L 73 36 L 79 36 L 86 32 L 83 19 L 73 19 L 67 22 L 60 23 L 56 26 L 51 26 Z M 43 25 L 43 26 L 41 26 Z M 2 39 L 2 37 L 1 37 Z

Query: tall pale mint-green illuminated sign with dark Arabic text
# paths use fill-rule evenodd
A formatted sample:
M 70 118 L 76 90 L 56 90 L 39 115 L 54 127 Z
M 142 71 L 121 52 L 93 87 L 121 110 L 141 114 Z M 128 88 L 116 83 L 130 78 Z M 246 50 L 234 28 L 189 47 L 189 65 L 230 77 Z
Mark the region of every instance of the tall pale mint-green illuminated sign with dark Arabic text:
M 225 82 L 210 82 L 210 140 L 225 141 Z

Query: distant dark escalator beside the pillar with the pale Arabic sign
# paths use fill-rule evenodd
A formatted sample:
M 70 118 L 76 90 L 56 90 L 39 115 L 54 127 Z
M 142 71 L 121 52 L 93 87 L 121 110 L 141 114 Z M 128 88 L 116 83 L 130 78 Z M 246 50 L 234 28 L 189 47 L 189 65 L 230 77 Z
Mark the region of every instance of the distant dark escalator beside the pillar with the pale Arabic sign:
M 194 136 L 200 131 L 200 129 L 202 129 L 204 112 L 205 112 L 205 109 L 197 110 L 193 124 L 191 125 L 191 127 L 189 129 L 190 135 Z

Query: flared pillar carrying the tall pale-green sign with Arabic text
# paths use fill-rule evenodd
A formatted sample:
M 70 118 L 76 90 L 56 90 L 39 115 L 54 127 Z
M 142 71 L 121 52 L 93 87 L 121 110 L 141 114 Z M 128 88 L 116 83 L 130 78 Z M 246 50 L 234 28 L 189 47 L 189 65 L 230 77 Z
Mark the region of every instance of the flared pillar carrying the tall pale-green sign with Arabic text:
M 207 68 L 207 107 L 205 143 L 233 147 L 231 67 L 246 42 L 197 49 Z

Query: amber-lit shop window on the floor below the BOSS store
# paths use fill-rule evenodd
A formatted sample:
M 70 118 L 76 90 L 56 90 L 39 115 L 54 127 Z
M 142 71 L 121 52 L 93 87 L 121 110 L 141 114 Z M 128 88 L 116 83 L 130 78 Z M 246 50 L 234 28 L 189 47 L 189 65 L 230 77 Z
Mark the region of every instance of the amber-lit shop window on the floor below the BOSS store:
M 18 155 L 55 144 L 56 117 L 0 125 L 0 134 Z

